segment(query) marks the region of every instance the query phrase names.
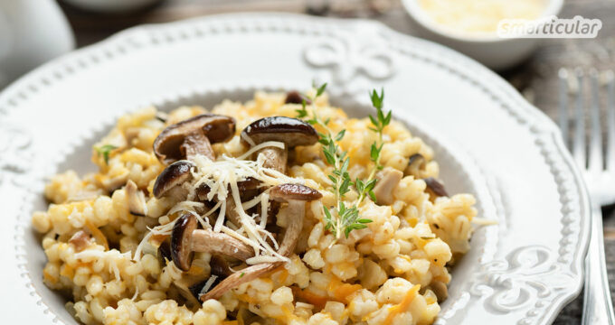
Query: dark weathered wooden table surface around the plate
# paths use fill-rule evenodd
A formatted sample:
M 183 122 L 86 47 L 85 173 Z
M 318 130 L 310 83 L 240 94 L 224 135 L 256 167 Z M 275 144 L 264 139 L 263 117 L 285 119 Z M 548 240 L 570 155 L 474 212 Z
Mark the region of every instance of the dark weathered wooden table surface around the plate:
M 162 0 L 131 14 L 101 15 L 61 4 L 76 33 L 78 46 L 88 45 L 141 23 L 166 23 L 208 14 L 271 12 L 369 18 L 394 30 L 415 34 L 400 0 Z M 603 26 L 596 39 L 545 40 L 535 55 L 513 70 L 500 72 L 530 102 L 556 118 L 560 68 L 615 69 L 615 0 L 567 0 L 560 17 L 580 14 L 599 18 Z M 585 90 L 586 91 L 586 90 Z M 615 292 L 615 209 L 604 209 L 607 264 L 611 295 Z M 555 324 L 580 324 L 582 294 L 571 302 Z

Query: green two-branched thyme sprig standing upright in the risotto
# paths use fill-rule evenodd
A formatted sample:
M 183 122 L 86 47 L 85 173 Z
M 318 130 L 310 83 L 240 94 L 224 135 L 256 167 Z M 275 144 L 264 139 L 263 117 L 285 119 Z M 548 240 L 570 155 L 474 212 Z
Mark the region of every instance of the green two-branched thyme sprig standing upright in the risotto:
M 359 217 L 358 207 L 367 196 L 374 201 L 376 200 L 374 194 L 374 186 L 376 184 L 375 173 L 383 168 L 380 164 L 380 152 L 383 149 L 383 129 L 391 122 L 391 112 L 384 115 L 383 90 L 381 90 L 380 95 L 375 90 L 370 93 L 372 105 L 376 108 L 376 116 L 369 116 L 373 124 L 370 129 L 378 134 L 378 141 L 374 142 L 370 149 L 370 159 L 374 162 L 374 168 L 369 173 L 367 180 L 363 181 L 357 178 L 355 181 L 352 181 L 348 173 L 350 158 L 338 145 L 344 138 L 345 130 L 336 133 L 334 136 L 334 132 L 328 126 L 330 122 L 329 119 L 323 121 L 317 115 L 316 106 L 314 104 L 316 99 L 325 92 L 326 83 L 319 87 L 313 85 L 313 87 L 317 90 L 316 95 L 313 98 L 307 97 L 312 103 L 310 111 L 307 110 L 307 101 L 304 99 L 301 108 L 297 109 L 297 113 L 298 118 L 306 119 L 306 122 L 311 125 L 320 125 L 325 130 L 324 133 L 318 133 L 320 137 L 318 142 L 323 146 L 323 154 L 325 155 L 326 163 L 334 168 L 333 172 L 328 175 L 328 178 L 333 185 L 331 191 L 335 195 L 336 207 L 333 209 L 323 207 L 323 210 L 325 212 L 325 228 L 335 235 L 336 239 L 333 242 L 335 243 L 342 237 L 342 234 L 347 238 L 351 231 L 366 228 L 366 224 L 372 222 L 371 219 Z M 353 186 L 358 192 L 359 197 L 352 205 L 346 206 L 344 202 L 345 194 L 350 191 L 350 188 Z

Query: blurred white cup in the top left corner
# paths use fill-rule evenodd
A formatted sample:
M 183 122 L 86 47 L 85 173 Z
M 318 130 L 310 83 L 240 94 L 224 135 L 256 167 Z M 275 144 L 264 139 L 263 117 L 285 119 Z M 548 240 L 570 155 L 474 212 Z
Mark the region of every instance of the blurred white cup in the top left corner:
M 54 0 L 0 0 L 0 88 L 74 46 Z

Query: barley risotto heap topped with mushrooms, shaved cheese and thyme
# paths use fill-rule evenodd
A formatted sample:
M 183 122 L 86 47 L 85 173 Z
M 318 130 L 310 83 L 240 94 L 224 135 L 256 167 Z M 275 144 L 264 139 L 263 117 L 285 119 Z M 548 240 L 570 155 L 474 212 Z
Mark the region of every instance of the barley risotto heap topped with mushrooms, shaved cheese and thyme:
M 477 215 L 370 93 L 325 86 L 207 110 L 148 107 L 33 214 L 43 281 L 86 324 L 430 324 Z

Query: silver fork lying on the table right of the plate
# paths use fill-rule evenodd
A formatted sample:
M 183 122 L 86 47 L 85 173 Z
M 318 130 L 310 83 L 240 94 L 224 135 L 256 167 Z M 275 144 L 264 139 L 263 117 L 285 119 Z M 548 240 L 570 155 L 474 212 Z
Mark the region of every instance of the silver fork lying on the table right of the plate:
M 609 279 L 604 258 L 604 238 L 602 230 L 601 206 L 615 203 L 615 79 L 608 71 L 607 84 L 607 141 L 606 159 L 602 155 L 602 132 L 600 96 L 601 83 L 598 72 L 591 70 L 585 76 L 582 70 L 570 75 L 567 70 L 559 71 L 560 107 L 559 124 L 564 141 L 569 139 L 568 88 L 569 80 L 576 79 L 574 101 L 574 135 L 571 151 L 574 160 L 581 167 L 583 178 L 591 198 L 591 239 L 585 259 L 585 295 L 583 300 L 582 324 L 615 325 L 613 304 L 610 300 Z M 588 80 L 589 79 L 589 80 Z M 584 84 L 589 81 L 590 88 L 590 144 L 585 145 L 585 102 Z M 589 149 L 589 150 L 588 150 Z M 606 162 L 606 163 L 604 163 Z

